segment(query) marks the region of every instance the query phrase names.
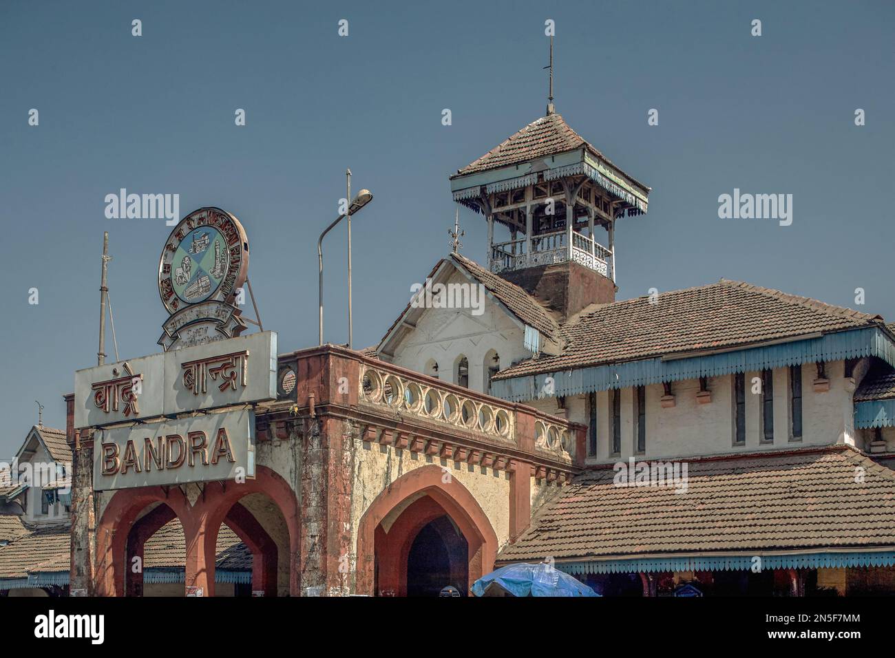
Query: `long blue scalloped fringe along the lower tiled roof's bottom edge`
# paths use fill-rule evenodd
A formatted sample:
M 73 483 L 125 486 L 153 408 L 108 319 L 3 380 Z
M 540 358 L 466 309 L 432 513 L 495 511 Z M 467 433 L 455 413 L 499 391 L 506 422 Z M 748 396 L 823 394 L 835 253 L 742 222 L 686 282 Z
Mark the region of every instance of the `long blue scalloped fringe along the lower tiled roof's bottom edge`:
M 569 574 L 618 574 L 656 571 L 745 571 L 760 558 L 760 567 L 773 568 L 847 568 L 891 567 L 895 551 L 809 552 L 787 555 L 718 555 L 698 557 L 644 558 L 642 560 L 587 560 L 557 562 L 556 567 Z

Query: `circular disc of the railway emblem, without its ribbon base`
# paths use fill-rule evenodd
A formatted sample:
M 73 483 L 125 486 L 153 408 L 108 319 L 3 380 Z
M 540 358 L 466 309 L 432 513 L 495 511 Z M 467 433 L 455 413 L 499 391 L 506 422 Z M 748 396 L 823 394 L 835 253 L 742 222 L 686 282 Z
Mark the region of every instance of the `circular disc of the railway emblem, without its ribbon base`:
M 175 226 L 158 264 L 158 293 L 169 313 L 209 300 L 232 303 L 245 283 L 249 241 L 233 215 L 201 208 Z

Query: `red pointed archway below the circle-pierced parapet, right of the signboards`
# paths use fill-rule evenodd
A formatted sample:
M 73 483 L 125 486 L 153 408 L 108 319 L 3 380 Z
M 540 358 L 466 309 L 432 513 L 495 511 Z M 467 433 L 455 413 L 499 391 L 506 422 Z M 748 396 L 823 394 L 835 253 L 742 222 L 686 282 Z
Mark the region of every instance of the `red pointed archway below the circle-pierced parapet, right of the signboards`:
M 494 569 L 498 538 L 473 494 L 448 478 L 440 466 L 421 466 L 398 478 L 382 491 L 361 518 L 357 534 L 358 594 L 377 594 L 374 581 L 379 560 L 379 590 L 407 591 L 407 556 L 423 526 L 447 514 L 469 545 L 469 585 Z M 409 498 L 417 498 L 401 511 L 388 533 L 382 520 Z

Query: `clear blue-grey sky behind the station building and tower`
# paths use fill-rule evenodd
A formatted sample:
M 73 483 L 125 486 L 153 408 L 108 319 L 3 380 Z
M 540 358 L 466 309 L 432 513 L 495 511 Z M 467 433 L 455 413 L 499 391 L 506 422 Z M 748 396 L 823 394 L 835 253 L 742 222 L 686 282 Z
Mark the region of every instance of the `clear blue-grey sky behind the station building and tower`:
M 895 320 L 888 0 L 7 1 L 0 456 L 37 422 L 35 399 L 64 427 L 73 372 L 96 363 L 104 230 L 121 356 L 157 350 L 170 227 L 105 218 L 121 187 L 179 193 L 181 215 L 216 205 L 240 218 L 261 318 L 285 352 L 317 341 L 315 243 L 351 167 L 375 195 L 354 222 L 354 344 L 376 343 L 448 250 L 447 175 L 543 114 L 549 18 L 558 112 L 652 186 L 649 214 L 618 228 L 619 298 L 723 277 L 854 307 L 863 287 L 858 308 Z M 792 193 L 792 226 L 719 219 L 735 187 Z M 463 252 L 483 261 L 481 216 L 461 222 Z M 327 338 L 344 342 L 344 229 L 325 247 Z

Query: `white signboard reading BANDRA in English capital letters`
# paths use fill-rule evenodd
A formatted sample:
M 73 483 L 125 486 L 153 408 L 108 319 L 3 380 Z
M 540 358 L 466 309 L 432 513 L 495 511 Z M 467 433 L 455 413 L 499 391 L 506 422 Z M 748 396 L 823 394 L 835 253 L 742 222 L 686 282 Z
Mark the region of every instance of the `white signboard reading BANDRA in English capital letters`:
M 248 408 L 98 432 L 95 491 L 255 476 L 255 414 Z

